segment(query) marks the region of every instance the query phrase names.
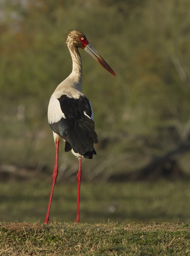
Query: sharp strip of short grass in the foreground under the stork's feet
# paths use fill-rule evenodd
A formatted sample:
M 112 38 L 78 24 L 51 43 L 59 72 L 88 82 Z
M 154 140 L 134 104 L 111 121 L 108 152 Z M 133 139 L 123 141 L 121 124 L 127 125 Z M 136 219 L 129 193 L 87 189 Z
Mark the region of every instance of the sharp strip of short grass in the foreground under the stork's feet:
M 1 223 L 0 255 L 189 255 L 190 225 Z

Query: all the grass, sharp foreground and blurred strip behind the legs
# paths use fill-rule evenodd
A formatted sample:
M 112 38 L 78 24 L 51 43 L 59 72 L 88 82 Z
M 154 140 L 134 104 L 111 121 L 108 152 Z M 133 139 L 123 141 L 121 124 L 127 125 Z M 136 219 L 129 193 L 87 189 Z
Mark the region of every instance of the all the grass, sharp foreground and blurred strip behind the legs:
M 45 179 L 0 184 L 0 255 L 190 255 L 189 224 L 127 224 L 190 223 L 189 182 L 82 183 L 80 224 L 77 184 L 58 182 L 44 225 L 50 189 Z

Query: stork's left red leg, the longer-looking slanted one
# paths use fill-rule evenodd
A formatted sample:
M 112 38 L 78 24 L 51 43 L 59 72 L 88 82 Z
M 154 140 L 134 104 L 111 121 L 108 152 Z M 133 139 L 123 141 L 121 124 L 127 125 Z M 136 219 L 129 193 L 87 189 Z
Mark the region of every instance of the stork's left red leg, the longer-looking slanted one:
M 50 214 L 51 199 L 52 199 L 52 195 L 53 195 L 53 189 L 54 189 L 54 186 L 55 186 L 55 181 L 56 181 L 57 175 L 58 175 L 58 150 L 59 150 L 59 140 L 56 141 L 55 166 L 54 166 L 53 176 L 52 176 L 53 177 L 53 184 L 52 184 L 52 188 L 51 188 L 48 211 L 47 211 L 46 218 L 45 218 L 45 221 L 44 221 L 45 224 L 50 223 L 49 214 Z

